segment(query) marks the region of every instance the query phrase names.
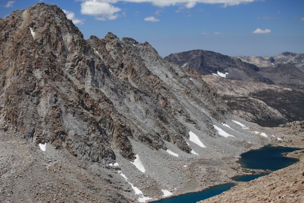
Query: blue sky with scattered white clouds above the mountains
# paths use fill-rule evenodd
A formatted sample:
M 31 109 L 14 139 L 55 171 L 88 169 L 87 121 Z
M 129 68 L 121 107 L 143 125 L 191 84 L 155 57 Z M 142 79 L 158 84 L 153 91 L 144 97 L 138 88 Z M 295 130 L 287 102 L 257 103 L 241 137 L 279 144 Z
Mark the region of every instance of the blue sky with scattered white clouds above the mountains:
M 304 53 L 303 0 L 0 0 L 0 16 L 58 5 L 84 33 L 149 42 L 166 56 L 203 49 L 226 55 Z

